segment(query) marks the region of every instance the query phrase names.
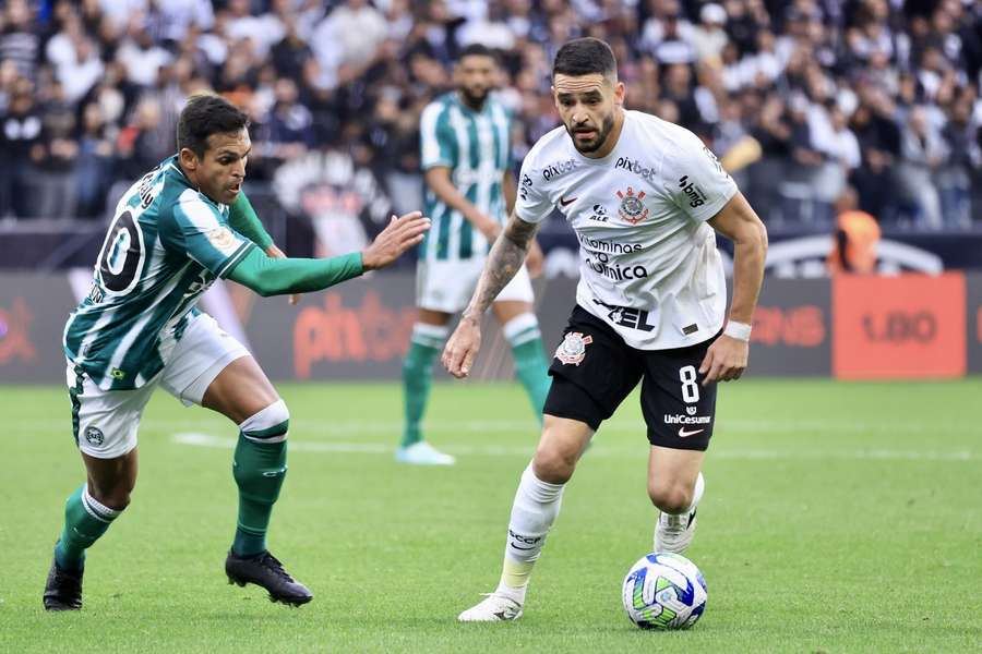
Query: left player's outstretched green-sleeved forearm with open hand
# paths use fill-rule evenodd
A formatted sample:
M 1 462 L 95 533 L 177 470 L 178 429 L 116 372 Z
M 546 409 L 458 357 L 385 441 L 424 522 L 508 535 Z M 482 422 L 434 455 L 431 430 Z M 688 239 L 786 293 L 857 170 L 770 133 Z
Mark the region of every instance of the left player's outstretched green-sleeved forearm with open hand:
M 384 268 L 418 245 L 428 229 L 430 219 L 419 211 L 398 218 L 393 216 L 388 226 L 363 251 L 325 259 L 271 258 L 253 247 L 228 272 L 228 278 L 264 298 L 320 291 L 366 270 Z

